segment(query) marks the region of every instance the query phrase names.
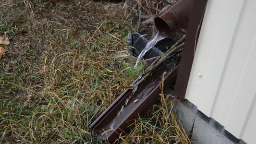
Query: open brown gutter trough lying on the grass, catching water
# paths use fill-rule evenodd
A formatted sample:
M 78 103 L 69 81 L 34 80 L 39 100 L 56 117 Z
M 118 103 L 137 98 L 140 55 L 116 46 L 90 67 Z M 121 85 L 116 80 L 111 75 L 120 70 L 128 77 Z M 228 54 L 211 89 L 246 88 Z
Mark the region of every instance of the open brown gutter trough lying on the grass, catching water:
M 166 66 L 161 65 L 158 67 L 157 71 L 152 73 L 151 77 L 146 78 L 142 84 L 138 85 L 134 95 L 132 95 L 131 89 L 125 90 L 110 107 L 90 125 L 95 135 L 105 143 L 114 144 L 122 132 L 127 132 L 127 130 L 130 129 L 128 126 L 134 122 L 134 119 L 137 119 L 139 115 L 146 112 L 159 98 L 162 76 L 164 76 L 163 89 L 170 84 L 175 84 L 178 67 L 179 66 L 173 71 L 170 71 Z M 164 72 L 166 73 L 163 75 Z M 135 80 L 133 84 L 138 80 L 139 79 Z M 130 99 L 129 102 L 126 102 L 127 99 Z M 127 103 L 126 106 L 125 103 Z M 124 107 L 124 109 L 122 113 L 119 114 L 119 110 L 121 110 L 122 107 Z

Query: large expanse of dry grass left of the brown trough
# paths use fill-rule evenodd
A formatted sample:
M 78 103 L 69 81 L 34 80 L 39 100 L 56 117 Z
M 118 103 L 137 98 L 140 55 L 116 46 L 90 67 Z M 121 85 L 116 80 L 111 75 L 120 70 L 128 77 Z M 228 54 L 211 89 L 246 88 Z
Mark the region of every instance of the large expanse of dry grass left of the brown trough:
M 0 1 L 0 33 L 10 39 L 0 60 L 0 143 L 95 143 L 89 125 L 145 69 L 134 71 L 127 55 L 136 23 L 122 6 Z

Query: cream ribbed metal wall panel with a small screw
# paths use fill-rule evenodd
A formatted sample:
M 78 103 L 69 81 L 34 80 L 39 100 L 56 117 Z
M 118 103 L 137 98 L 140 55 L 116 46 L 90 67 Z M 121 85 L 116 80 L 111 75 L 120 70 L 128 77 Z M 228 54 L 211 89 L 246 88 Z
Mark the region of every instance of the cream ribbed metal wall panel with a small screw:
M 256 130 L 255 42 L 256 0 L 208 0 L 185 95 L 248 144 Z

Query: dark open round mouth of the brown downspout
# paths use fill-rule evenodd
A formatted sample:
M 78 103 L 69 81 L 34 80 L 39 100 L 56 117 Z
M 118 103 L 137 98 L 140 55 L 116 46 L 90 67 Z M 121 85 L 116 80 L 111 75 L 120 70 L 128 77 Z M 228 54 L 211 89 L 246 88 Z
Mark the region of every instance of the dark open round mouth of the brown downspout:
M 161 19 L 160 17 L 156 17 L 154 22 L 159 33 L 162 36 L 171 37 L 171 29 L 163 19 Z

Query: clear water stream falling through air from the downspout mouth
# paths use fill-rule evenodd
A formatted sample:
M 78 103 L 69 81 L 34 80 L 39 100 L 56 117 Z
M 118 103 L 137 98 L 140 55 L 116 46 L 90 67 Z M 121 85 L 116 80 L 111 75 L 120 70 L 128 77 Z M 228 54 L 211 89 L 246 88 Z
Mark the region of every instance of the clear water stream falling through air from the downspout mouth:
M 138 63 L 140 62 L 140 59 L 146 54 L 146 52 L 153 48 L 160 40 L 164 39 L 165 36 L 162 36 L 161 34 L 159 34 L 159 32 L 157 33 L 157 35 L 151 39 L 145 46 L 145 48 L 141 51 L 140 55 L 137 58 L 137 61 L 135 63 L 134 68 L 136 68 L 136 66 L 138 65 Z

